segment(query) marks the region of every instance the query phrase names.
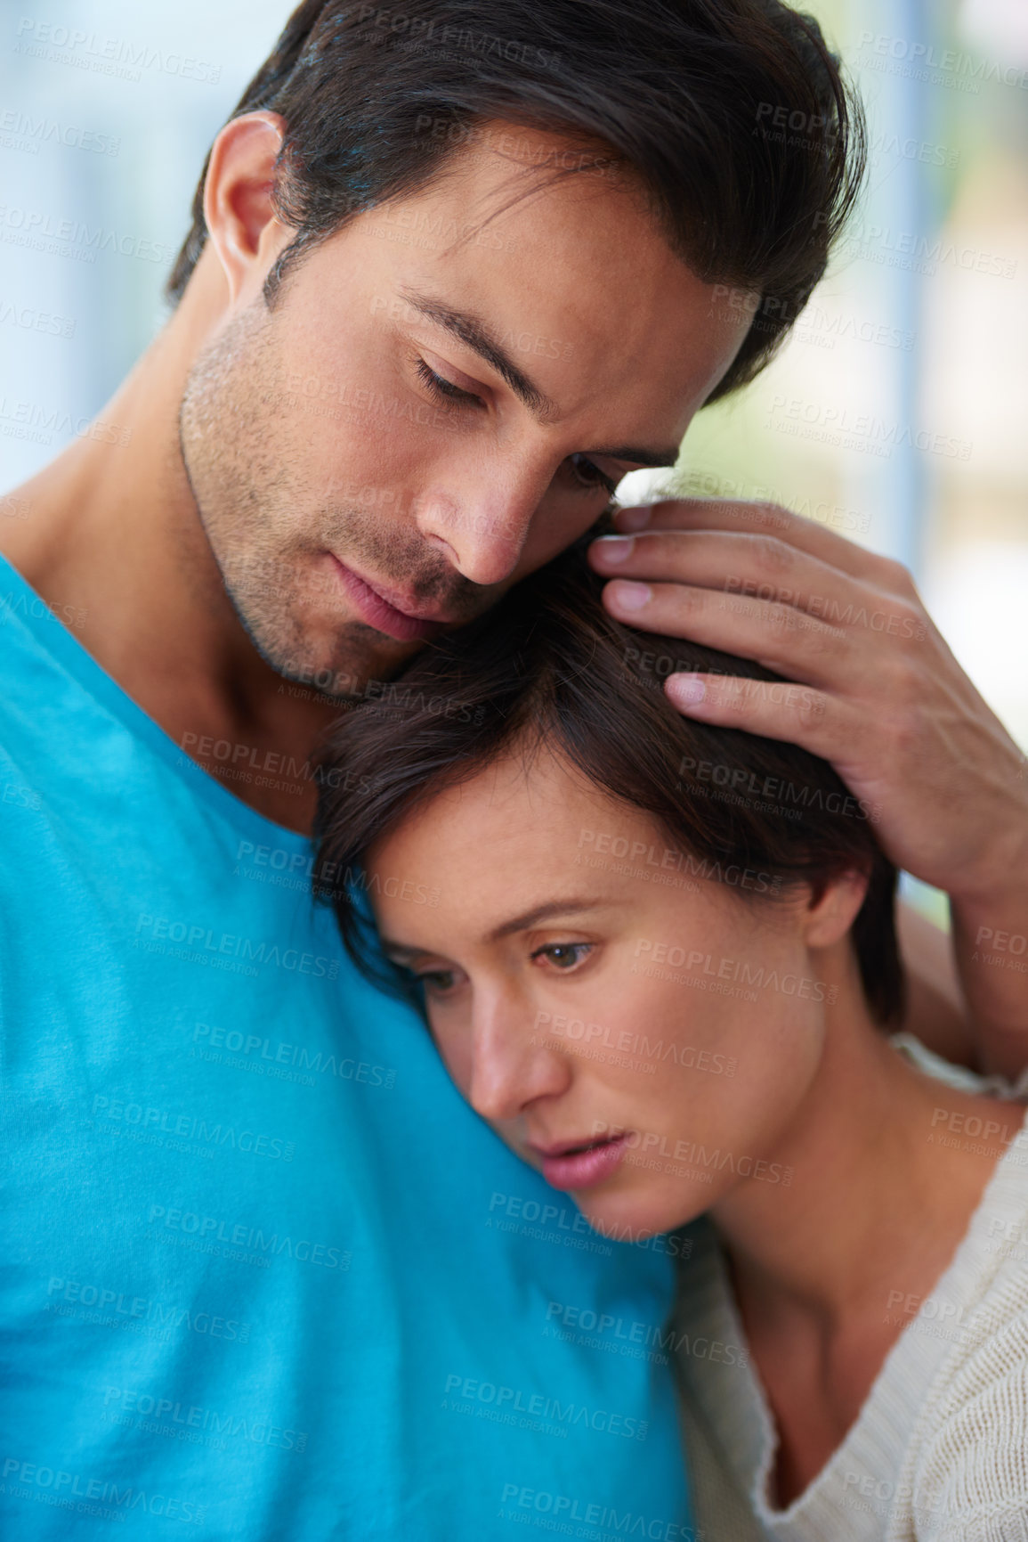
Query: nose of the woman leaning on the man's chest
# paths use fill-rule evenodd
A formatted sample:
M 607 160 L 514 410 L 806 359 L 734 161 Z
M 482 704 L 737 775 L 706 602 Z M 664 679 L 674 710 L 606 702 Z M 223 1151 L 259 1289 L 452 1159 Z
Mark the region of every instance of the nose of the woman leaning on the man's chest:
M 515 1119 L 536 1098 L 558 1096 L 572 1067 L 515 1002 L 481 1002 L 472 1025 L 469 1103 L 485 1119 Z

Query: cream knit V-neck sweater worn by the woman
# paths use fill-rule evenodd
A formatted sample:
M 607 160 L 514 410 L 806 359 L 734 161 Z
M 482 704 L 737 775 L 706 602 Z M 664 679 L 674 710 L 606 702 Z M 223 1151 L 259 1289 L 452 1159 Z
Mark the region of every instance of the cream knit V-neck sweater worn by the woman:
M 906 1326 L 857 1422 L 788 1510 L 720 1246 L 689 1229 L 674 1340 L 704 1542 L 1028 1542 L 1028 1119 L 999 1112 L 1020 1133 L 952 1263 L 895 1303 Z

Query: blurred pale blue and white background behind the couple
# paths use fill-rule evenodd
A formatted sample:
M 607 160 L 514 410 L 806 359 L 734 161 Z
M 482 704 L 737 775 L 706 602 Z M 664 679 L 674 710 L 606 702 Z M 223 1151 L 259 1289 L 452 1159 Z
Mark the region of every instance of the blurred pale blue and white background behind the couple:
M 866 103 L 868 190 L 778 359 L 700 413 L 677 483 L 902 558 L 1028 748 L 1028 5 L 805 9 Z M 5 0 L 0 490 L 83 432 L 162 325 L 205 153 L 285 15 Z

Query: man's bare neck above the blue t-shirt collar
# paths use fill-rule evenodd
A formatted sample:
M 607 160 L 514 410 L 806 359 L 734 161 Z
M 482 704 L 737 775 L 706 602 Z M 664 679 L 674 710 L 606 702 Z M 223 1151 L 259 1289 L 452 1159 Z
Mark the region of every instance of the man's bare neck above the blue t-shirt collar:
M 339 709 L 260 658 L 225 594 L 179 449 L 193 347 L 173 318 L 99 415 L 102 433 L 17 489 L 28 518 L 3 521 L 0 550 L 186 754 L 305 831 L 310 754 Z

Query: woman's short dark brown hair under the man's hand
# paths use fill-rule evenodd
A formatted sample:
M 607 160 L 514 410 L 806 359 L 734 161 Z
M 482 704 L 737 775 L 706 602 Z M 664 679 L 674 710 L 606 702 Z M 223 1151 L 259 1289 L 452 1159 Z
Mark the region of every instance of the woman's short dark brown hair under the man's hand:
M 872 810 L 797 745 L 681 717 L 661 682 L 674 668 L 801 688 L 749 660 L 621 626 L 603 608 L 604 581 L 576 543 L 336 725 L 322 760 L 316 876 L 331 880 L 322 897 L 334 902 L 350 956 L 410 996 L 375 944 L 365 853 L 444 788 L 509 752 L 530 760 L 549 748 L 649 814 L 686 859 L 683 871 L 727 882 L 741 899 L 774 904 L 797 882 L 820 893 L 845 871 L 866 873 L 851 939 L 868 1005 L 879 1022 L 892 1021 L 903 1004 L 897 874 Z M 632 867 L 630 851 L 613 856 Z

